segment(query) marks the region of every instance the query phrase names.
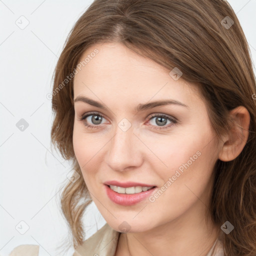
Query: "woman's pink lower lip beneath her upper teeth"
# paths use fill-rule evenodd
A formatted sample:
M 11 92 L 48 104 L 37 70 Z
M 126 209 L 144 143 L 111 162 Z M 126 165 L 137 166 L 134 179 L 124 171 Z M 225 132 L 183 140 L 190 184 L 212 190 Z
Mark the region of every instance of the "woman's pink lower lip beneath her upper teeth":
M 126 205 L 126 206 L 133 205 L 144 200 L 156 189 L 156 187 L 153 187 L 147 191 L 141 191 L 140 193 L 122 194 L 122 193 L 117 193 L 113 191 L 108 185 L 104 185 L 104 186 L 106 188 L 106 194 L 111 201 L 117 204 Z

